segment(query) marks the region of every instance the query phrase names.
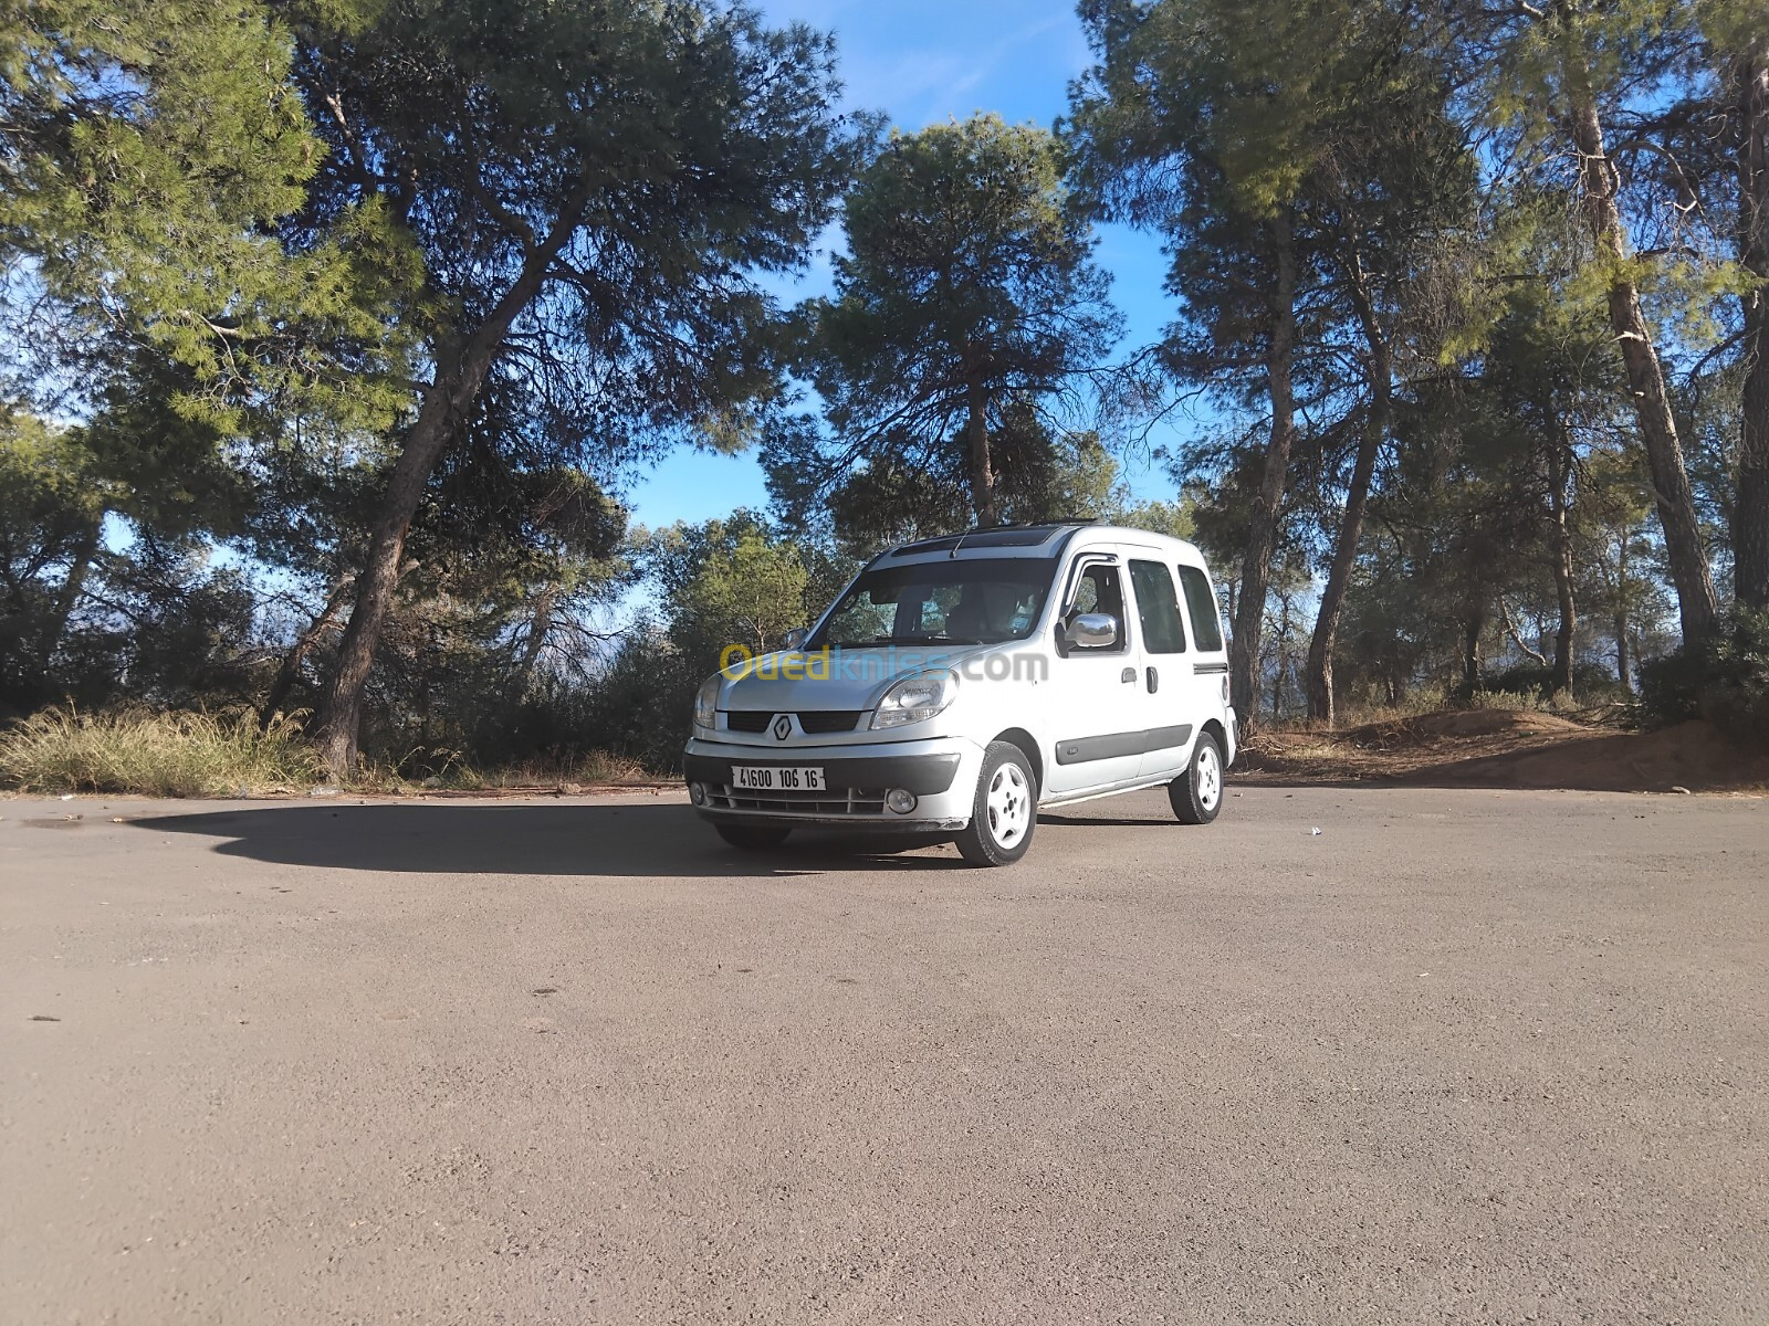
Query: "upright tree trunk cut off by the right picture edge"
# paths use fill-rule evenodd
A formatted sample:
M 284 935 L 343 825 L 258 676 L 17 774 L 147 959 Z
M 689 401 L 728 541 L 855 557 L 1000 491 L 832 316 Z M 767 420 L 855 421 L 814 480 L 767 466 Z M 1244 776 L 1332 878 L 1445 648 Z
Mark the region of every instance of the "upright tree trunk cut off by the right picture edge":
M 1739 150 L 1739 256 L 1758 283 L 1744 309 L 1744 438 L 1732 507 L 1739 603 L 1769 608 L 1769 39 L 1739 62 L 1744 141 Z

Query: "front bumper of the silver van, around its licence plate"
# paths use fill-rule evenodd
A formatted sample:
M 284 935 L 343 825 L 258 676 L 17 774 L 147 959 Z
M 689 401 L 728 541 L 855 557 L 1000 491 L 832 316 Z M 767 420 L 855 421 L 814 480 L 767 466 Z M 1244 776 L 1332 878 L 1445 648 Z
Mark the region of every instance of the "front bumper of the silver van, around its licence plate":
M 883 741 L 842 746 L 738 746 L 695 737 L 683 753 L 683 776 L 702 819 L 725 824 L 817 824 L 913 833 L 962 829 L 971 822 L 982 746 L 964 737 Z M 821 792 L 738 789 L 731 766 L 823 769 Z M 884 806 L 892 789 L 915 792 L 907 815 Z

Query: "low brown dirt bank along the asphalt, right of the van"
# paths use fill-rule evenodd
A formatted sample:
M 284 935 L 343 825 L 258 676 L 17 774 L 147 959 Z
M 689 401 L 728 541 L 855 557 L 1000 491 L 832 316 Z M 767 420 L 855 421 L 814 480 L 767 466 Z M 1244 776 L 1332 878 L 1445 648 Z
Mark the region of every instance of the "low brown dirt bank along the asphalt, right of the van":
M 1601 716 L 1472 709 L 1343 732 L 1265 732 L 1247 743 L 1235 773 L 1286 785 L 1746 792 L 1769 787 L 1769 751 L 1741 750 L 1712 723 L 1627 732 Z

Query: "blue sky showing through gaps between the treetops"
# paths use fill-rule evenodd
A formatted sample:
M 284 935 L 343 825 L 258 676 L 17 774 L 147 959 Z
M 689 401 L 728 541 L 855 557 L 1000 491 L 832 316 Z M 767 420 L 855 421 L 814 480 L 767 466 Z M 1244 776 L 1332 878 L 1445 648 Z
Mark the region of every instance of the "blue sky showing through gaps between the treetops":
M 980 110 L 1049 124 L 1088 65 L 1072 0 L 761 0 L 761 9 L 773 23 L 835 32 L 849 106 L 884 111 L 900 129 Z M 1152 341 L 1169 318 L 1159 242 L 1111 226 L 1097 256 L 1125 313 L 1125 348 Z M 826 281 L 828 263 L 817 262 L 793 293 L 821 293 Z M 1168 477 L 1143 461 L 1127 460 L 1125 479 L 1141 497 L 1173 495 Z M 633 522 L 656 527 L 759 507 L 768 490 L 754 453 L 683 449 L 633 484 L 630 500 Z

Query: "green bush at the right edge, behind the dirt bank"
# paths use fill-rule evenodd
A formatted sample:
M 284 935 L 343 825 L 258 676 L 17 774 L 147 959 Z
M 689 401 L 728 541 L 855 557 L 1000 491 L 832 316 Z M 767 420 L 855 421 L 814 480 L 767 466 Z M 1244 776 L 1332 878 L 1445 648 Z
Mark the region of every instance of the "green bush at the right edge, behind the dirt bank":
M 1769 748 L 1769 612 L 1735 608 L 1712 638 L 1647 663 L 1640 709 L 1649 727 L 1705 718 Z

